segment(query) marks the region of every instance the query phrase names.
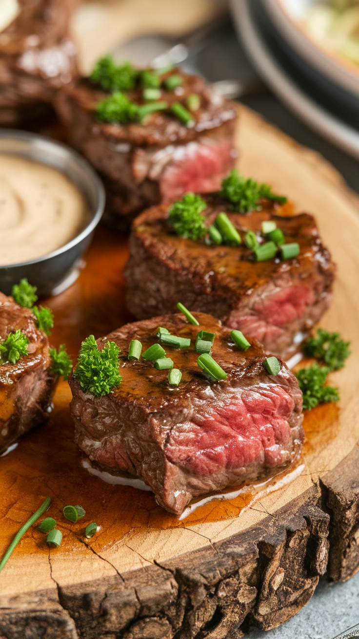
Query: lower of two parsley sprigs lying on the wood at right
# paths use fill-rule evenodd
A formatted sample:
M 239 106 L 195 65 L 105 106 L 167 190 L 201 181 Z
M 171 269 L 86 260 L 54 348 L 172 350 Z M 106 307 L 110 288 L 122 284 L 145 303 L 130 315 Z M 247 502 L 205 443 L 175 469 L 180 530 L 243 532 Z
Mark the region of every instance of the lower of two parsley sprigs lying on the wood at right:
M 310 410 L 317 404 L 339 401 L 338 389 L 325 385 L 328 373 L 330 373 L 330 368 L 319 366 L 317 362 L 296 373 L 299 389 L 303 393 L 303 408 Z

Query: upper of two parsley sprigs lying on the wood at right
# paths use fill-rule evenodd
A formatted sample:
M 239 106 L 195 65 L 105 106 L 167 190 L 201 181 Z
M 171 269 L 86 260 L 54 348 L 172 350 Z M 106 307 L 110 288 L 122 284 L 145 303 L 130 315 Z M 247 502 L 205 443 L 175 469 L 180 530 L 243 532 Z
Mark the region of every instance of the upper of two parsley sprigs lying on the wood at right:
M 337 371 L 344 366 L 349 357 L 350 342 L 344 342 L 339 333 L 329 333 L 318 328 L 317 334 L 309 337 L 304 344 L 304 352 L 308 357 L 322 360 L 331 371 Z

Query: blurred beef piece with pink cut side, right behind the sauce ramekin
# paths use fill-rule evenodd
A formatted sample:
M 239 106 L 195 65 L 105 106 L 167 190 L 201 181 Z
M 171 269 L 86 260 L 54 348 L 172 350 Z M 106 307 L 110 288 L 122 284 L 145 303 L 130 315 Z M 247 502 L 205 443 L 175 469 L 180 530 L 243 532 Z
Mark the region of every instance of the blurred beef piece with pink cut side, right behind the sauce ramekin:
M 123 226 L 143 208 L 162 200 L 171 201 L 190 190 L 219 189 L 234 166 L 234 104 L 197 75 L 180 75 L 183 93 L 163 90 L 161 100 L 170 105 L 199 95 L 193 128 L 164 111 L 148 116 L 145 124 L 101 123 L 95 107 L 108 94 L 88 80 L 58 95 L 58 112 L 68 125 L 72 143 L 104 178 L 108 213 Z M 141 101 L 138 89 L 129 91 L 129 96 Z

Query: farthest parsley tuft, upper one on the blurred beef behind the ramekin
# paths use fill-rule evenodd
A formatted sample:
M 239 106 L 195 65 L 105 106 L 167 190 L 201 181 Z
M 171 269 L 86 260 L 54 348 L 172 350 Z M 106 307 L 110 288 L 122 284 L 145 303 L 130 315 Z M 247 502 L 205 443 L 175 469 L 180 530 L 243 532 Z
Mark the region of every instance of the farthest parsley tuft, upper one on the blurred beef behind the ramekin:
M 138 71 L 129 62 L 118 66 L 112 56 L 105 56 L 96 63 L 90 80 L 105 91 L 129 91 L 134 88 L 137 77 Z

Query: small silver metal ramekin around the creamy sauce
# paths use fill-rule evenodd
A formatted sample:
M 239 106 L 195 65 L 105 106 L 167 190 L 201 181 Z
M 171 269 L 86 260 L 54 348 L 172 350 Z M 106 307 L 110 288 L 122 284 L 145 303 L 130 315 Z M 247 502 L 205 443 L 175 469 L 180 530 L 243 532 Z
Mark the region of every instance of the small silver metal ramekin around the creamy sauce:
M 76 267 L 91 242 L 95 226 L 104 212 L 105 194 L 102 182 L 84 158 L 72 149 L 43 135 L 11 129 L 0 130 L 0 153 L 20 155 L 58 169 L 83 194 L 90 221 L 73 240 L 60 249 L 20 264 L 0 266 L 0 291 L 10 295 L 13 284 L 26 277 L 37 286 L 38 295 L 56 295 L 76 280 Z

